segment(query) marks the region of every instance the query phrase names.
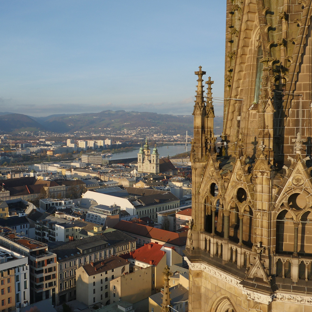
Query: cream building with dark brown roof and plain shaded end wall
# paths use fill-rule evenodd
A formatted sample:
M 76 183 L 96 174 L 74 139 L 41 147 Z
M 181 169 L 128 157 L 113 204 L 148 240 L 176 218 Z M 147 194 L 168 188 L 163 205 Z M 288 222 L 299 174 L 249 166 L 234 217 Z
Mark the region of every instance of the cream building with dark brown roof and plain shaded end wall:
M 110 298 L 110 281 L 129 273 L 129 262 L 120 257 L 91 262 L 76 271 L 77 298 L 89 307 L 108 305 Z

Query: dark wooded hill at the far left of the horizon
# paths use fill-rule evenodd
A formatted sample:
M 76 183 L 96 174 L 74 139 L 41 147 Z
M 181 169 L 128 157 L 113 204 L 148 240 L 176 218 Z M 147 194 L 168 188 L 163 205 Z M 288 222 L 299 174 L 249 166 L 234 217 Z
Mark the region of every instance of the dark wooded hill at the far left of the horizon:
M 36 131 L 45 128 L 36 120 L 22 114 L 0 115 L 0 130 L 15 132 L 16 130 Z

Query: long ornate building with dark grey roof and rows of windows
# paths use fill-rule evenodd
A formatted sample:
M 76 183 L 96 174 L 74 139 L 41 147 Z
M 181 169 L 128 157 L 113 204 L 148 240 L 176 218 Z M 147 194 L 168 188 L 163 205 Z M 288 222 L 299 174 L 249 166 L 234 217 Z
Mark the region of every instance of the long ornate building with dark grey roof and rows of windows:
M 52 249 L 57 257 L 56 305 L 76 299 L 76 270 L 91 262 L 119 256 L 136 249 L 136 240 L 107 229 L 101 235 L 70 241 Z

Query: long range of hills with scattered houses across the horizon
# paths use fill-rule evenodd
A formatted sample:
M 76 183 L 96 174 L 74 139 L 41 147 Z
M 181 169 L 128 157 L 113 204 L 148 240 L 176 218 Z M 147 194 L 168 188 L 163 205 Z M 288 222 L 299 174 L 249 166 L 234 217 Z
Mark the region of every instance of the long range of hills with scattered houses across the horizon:
M 215 134 L 222 132 L 223 116 L 214 119 Z M 32 117 L 22 114 L 1 113 L 0 130 L 15 132 L 28 130 L 48 130 L 56 133 L 74 133 L 75 131 L 111 132 L 123 129 L 134 130 L 137 128 L 158 129 L 158 133 L 184 134 L 188 130 L 193 134 L 192 115 L 167 115 L 149 112 L 126 112 L 124 110 L 105 110 L 100 113 L 84 114 L 56 114 L 46 117 Z

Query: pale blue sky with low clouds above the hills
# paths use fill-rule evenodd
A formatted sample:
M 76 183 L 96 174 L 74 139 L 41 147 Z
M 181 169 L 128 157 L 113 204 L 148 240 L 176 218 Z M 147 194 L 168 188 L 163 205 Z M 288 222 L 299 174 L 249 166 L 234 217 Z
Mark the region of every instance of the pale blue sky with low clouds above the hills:
M 191 115 L 223 96 L 226 1 L 2 0 L 0 111 Z M 223 105 L 215 103 L 215 115 Z

